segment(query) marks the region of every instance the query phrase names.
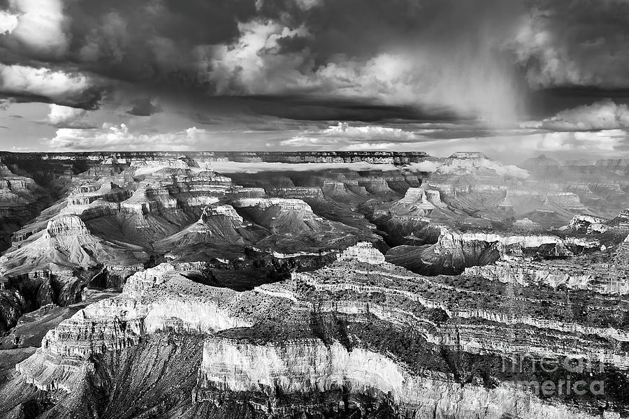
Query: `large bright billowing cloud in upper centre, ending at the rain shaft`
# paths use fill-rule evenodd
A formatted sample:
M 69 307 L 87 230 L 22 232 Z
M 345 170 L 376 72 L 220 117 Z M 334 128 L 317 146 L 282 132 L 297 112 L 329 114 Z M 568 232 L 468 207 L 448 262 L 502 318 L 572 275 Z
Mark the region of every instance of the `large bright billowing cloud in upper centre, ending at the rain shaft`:
M 453 54 L 440 54 L 416 45 L 368 57 L 339 53 L 321 64 L 317 41 L 310 41 L 318 34 L 304 25 L 289 29 L 280 22 L 253 20 L 239 24 L 239 30 L 236 43 L 196 49 L 199 73 L 217 94 L 302 94 L 420 104 L 495 124 L 514 121 L 519 107 L 519 87 L 511 71 L 493 57 L 490 40 L 482 50 L 463 45 Z

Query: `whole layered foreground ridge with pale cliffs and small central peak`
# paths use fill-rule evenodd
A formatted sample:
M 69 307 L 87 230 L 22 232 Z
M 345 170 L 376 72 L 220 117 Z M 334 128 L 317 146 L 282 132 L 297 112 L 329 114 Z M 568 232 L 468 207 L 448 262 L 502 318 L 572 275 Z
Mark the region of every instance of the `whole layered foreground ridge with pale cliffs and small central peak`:
M 561 299 L 544 300 L 550 308 L 537 311 L 539 295 L 420 277 L 386 263 L 371 244 L 347 249 L 321 270 L 243 293 L 189 279 L 202 270 L 201 264 L 163 264 L 138 272 L 120 296 L 89 305 L 48 332 L 17 372 L 41 390 L 63 390 L 72 406 L 81 383 L 101 379 L 103 371 L 120 376 L 131 362 L 126 354 L 144 351 L 167 332 L 203 340 L 202 353 L 194 349 L 196 358 L 187 361 L 198 365 L 189 389 L 194 409 L 228 409 L 243 400 L 258 412 L 324 416 L 330 409 L 366 413 L 373 407 L 364 403 L 375 397 L 400 416 L 590 418 L 589 408 L 535 397 L 501 372 L 496 357 L 595 354 L 609 368 L 629 368 L 628 354 L 612 343 L 628 341 L 628 332 L 588 318 L 571 321 L 572 309 Z M 168 347 L 155 350 L 158 363 L 182 356 Z M 475 376 L 477 360 L 493 365 L 485 384 Z M 141 397 L 141 388 L 136 382 L 129 392 Z M 106 392 L 115 403 L 124 400 Z

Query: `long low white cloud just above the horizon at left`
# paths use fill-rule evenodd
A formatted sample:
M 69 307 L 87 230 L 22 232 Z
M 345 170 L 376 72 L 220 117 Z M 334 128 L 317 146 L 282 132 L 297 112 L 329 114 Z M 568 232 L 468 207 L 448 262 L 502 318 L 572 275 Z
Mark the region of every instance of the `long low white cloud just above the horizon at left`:
M 101 128 L 59 128 L 48 142 L 52 149 L 73 150 L 189 150 L 208 138 L 196 127 L 171 133 L 135 133 L 125 124 Z

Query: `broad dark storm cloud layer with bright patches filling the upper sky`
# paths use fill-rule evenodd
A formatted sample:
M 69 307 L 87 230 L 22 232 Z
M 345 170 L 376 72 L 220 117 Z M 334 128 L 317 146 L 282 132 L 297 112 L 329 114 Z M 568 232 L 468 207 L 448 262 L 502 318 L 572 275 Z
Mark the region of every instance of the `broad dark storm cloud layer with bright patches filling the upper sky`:
M 500 122 L 545 110 L 536 89 L 629 89 L 621 0 L 4 0 L 0 8 L 0 94 L 20 101 L 96 108 L 113 92 L 160 101 L 187 92 L 191 103 L 252 98 L 251 112 L 300 120 Z M 132 115 L 159 110 L 132 96 L 125 106 Z

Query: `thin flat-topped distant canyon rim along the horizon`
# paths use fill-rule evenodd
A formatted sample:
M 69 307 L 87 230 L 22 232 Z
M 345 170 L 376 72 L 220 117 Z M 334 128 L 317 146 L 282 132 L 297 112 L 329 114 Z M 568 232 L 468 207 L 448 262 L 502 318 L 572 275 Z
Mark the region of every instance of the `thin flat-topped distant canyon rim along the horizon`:
M 429 157 L 426 152 L 68 152 L 11 153 L 0 152 L 0 161 L 125 161 L 130 159 L 204 159 L 242 163 L 419 163 Z

